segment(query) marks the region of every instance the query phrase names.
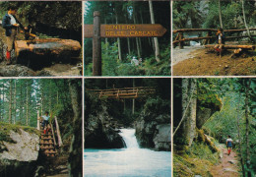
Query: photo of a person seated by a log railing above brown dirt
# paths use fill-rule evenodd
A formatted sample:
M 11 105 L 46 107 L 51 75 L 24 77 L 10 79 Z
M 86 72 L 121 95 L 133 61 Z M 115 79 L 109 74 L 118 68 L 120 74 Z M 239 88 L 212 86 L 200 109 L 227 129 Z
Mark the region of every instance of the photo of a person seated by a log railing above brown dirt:
M 255 1 L 173 1 L 173 76 L 255 76 Z

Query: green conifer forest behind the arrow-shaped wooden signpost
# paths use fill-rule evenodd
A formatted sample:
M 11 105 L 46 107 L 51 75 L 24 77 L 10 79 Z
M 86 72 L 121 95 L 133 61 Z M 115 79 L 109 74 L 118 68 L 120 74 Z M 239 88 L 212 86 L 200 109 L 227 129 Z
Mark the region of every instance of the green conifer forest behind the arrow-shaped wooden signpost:
M 153 24 L 155 21 L 167 29 L 158 39 L 102 38 L 102 75 L 170 75 L 170 2 L 86 2 L 85 5 L 85 24 L 94 24 L 93 14 L 99 11 L 101 24 Z M 92 38 L 86 38 L 86 75 L 92 75 L 92 52 Z M 133 57 L 142 58 L 142 65 L 131 65 Z

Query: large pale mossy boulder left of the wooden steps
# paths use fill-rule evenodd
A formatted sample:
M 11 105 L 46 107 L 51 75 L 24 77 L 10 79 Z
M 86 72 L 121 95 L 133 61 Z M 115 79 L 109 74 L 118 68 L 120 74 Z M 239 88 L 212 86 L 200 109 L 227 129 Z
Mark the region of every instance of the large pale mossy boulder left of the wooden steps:
M 39 137 L 19 129 L 0 142 L 0 176 L 33 176 L 39 152 Z

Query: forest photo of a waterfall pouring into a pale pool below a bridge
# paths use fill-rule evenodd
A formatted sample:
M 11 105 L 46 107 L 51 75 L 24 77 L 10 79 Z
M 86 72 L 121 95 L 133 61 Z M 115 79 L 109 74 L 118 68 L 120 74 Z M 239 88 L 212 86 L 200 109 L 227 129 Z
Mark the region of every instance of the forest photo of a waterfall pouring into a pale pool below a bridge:
M 85 176 L 171 176 L 170 79 L 85 80 Z

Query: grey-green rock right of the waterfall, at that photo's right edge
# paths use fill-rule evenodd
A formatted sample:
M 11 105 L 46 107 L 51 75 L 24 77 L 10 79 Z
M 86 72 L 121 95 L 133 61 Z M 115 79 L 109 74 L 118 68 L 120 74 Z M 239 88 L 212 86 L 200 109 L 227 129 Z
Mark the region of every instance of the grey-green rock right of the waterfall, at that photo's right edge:
M 155 148 L 157 150 L 170 150 L 170 124 L 161 124 L 157 126 L 158 134 L 154 138 Z

